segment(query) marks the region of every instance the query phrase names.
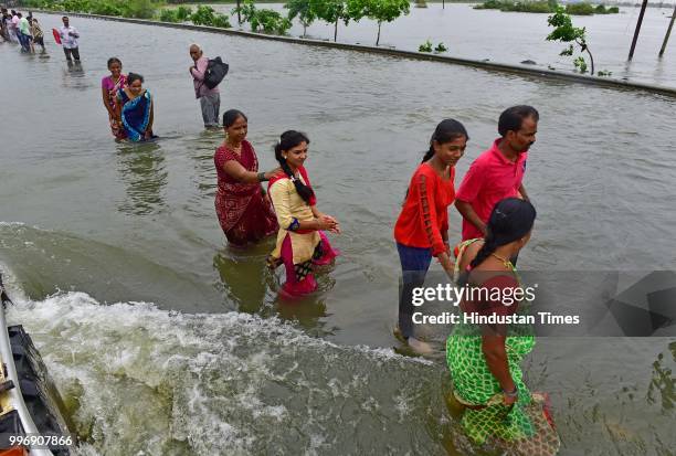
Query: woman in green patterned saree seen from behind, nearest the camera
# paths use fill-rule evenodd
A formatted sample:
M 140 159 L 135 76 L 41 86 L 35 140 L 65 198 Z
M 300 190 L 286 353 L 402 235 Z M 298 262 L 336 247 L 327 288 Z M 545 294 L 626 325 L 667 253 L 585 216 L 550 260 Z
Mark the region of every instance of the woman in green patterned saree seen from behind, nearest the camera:
M 527 315 L 527 301 L 508 298 L 520 287 L 509 258 L 528 243 L 535 219 L 530 202 L 501 200 L 490 214 L 486 238 L 460 245 L 455 266 L 458 285 L 467 284 L 474 297 L 479 296 L 465 299 L 462 312 L 498 317 L 498 321 L 474 325 L 461 318 L 446 341 L 446 360 L 454 399 L 465 409 L 462 424 L 473 442 L 497 444 L 510 454 L 553 455 L 560 442 L 547 397 L 528 390 L 520 368 L 535 346 L 532 327 L 499 321 Z M 499 298 L 493 294 L 495 289 L 500 290 Z M 482 290 L 489 293 L 476 293 Z

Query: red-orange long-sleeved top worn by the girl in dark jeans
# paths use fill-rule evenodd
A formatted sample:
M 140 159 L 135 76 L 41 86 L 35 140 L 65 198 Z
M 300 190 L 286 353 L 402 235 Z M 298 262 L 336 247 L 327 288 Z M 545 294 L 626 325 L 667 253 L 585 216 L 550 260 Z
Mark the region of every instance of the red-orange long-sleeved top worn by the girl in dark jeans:
M 455 199 L 455 168 L 448 173 L 448 179 L 443 180 L 426 162 L 418 167 L 394 225 L 398 243 L 432 248 L 434 256 L 446 251 L 441 233 L 448 230 L 448 205 Z

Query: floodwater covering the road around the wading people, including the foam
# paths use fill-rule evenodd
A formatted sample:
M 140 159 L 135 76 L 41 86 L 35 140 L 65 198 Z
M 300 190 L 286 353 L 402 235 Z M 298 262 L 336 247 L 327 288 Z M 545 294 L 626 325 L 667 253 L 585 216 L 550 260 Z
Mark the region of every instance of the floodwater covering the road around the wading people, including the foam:
M 39 15 L 43 29 L 55 15 Z M 525 185 L 538 209 L 522 269 L 674 269 L 673 98 L 433 62 L 74 19 L 81 67 L 0 45 L 0 262 L 82 454 L 492 454 L 443 401 L 444 338 L 395 354 L 392 229 L 435 125 L 496 137 L 507 106 L 540 110 Z M 288 128 L 311 139 L 319 208 L 342 251 L 320 293 L 289 306 L 272 242 L 231 250 L 188 46 L 226 55 L 222 107 L 249 115 L 263 169 Z M 101 102 L 119 56 L 156 99 L 162 139 L 117 145 Z M 451 211 L 451 236 L 460 218 Z M 439 269 L 434 265 L 435 271 Z M 676 340 L 541 338 L 527 383 L 549 392 L 561 454 L 669 454 Z

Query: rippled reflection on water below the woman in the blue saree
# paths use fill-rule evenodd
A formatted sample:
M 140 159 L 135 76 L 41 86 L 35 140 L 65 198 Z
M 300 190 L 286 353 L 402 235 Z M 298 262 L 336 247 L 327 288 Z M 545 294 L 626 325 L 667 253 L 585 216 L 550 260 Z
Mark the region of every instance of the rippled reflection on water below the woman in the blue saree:
M 157 142 L 123 142 L 119 145 L 119 172 L 127 185 L 127 200 L 118 209 L 136 215 L 158 212 L 165 206 L 162 188 L 169 173 L 165 155 Z

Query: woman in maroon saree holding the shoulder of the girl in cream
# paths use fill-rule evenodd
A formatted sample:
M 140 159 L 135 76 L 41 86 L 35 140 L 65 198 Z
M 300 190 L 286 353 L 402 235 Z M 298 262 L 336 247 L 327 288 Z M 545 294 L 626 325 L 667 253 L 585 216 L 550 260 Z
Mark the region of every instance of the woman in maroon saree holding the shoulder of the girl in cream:
M 219 189 L 215 211 L 219 222 L 235 246 L 261 241 L 278 230 L 277 218 L 261 182 L 270 180 L 276 170 L 258 172 L 258 159 L 245 139 L 247 119 L 244 113 L 230 109 L 223 114 L 225 140 L 215 151 Z

